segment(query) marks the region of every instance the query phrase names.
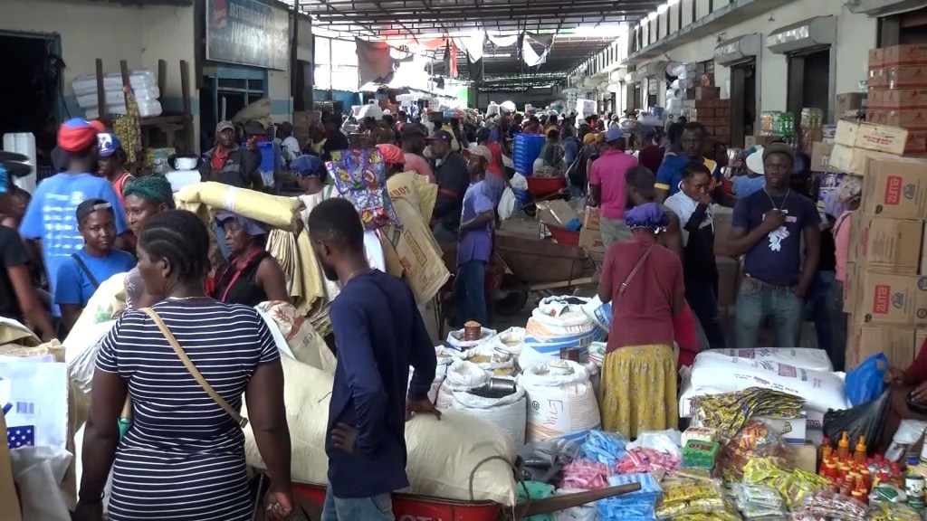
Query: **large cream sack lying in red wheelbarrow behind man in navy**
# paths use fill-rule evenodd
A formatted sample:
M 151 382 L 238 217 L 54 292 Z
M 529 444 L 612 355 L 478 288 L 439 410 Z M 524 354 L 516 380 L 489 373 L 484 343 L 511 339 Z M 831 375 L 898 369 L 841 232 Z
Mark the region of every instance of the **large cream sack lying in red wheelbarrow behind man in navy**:
M 293 445 L 291 476 L 298 483 L 324 485 L 328 482 L 324 438 L 333 376 L 287 356 L 280 360 L 286 422 Z M 242 415 L 248 416 L 245 405 Z M 499 429 L 470 414 L 447 411 L 440 421 L 430 415 L 414 417 L 406 423 L 405 436 L 409 453 L 406 472 L 412 486 L 404 492 L 468 501 L 470 474 L 476 465 L 489 457 L 502 457 L 504 461 L 492 459 L 476 469 L 474 499 L 514 504 L 511 465 L 515 450 Z M 251 426 L 245 428 L 245 452 L 249 465 L 266 468 Z

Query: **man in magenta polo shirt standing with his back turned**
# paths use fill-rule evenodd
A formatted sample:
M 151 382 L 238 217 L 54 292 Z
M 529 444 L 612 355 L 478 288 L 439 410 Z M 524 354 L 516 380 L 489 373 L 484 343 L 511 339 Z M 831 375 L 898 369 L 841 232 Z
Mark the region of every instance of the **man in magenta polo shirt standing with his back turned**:
M 625 153 L 624 133 L 619 128 L 608 129 L 605 151 L 592 163 L 590 175 L 590 206 L 602 207 L 600 226 L 605 248 L 631 238 L 624 221 L 628 203 L 625 175 L 635 166 L 637 159 Z

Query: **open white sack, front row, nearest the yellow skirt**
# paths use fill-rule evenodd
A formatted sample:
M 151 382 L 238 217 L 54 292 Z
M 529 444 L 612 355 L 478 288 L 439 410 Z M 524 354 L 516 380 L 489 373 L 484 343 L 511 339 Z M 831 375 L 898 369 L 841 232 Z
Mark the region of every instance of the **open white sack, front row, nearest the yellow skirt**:
M 602 426 L 589 373 L 581 364 L 554 360 L 531 366 L 522 385 L 528 400 L 527 441 L 578 439 Z

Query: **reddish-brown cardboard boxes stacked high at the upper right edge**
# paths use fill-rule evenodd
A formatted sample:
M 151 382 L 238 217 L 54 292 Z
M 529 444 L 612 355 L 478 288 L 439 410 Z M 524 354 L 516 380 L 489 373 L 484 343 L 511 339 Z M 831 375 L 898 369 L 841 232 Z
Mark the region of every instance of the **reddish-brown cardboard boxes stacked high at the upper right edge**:
M 866 121 L 908 129 L 908 156 L 927 155 L 927 45 L 870 51 Z

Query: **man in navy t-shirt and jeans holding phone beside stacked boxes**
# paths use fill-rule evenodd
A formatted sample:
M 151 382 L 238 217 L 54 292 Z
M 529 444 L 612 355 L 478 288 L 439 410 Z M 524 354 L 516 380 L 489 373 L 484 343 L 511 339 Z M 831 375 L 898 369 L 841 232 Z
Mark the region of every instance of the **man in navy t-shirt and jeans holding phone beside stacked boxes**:
M 793 164 L 790 146 L 767 146 L 766 187 L 734 207 L 728 253 L 744 256 L 737 298 L 736 338 L 741 349 L 757 347 L 759 328 L 767 317 L 775 321 L 776 346 L 798 345 L 805 299 L 818 271 L 820 216 L 814 201 L 789 187 Z

